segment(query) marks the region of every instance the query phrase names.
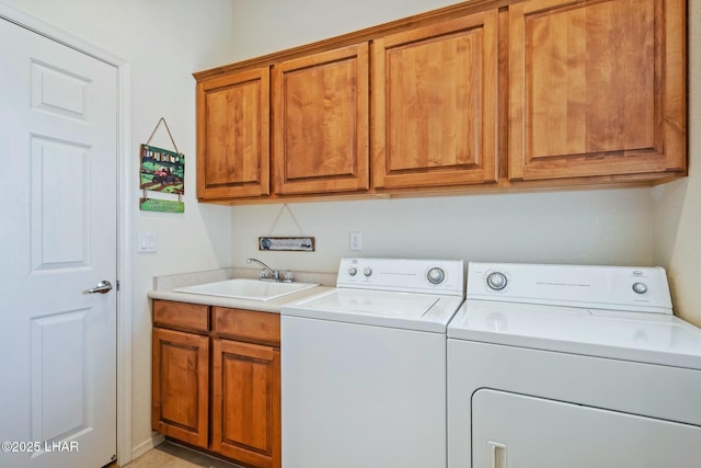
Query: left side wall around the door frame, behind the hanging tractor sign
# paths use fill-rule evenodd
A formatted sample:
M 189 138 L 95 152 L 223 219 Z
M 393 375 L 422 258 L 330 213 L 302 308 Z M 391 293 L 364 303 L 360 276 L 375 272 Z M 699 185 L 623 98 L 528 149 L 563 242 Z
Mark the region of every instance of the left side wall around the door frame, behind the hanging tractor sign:
M 133 227 L 157 231 L 157 254 L 133 261 L 133 441 L 151 437 L 151 317 L 146 294 L 154 275 L 226 266 L 231 256 L 231 210 L 195 198 L 194 71 L 232 60 L 231 0 L 0 0 L 130 62 L 134 155 Z M 185 214 L 138 209 L 139 146 L 165 117 L 187 158 Z M 154 146 L 172 149 L 161 126 Z M 134 243 L 136 246 L 136 242 Z M 223 264 L 221 264 L 223 262 Z

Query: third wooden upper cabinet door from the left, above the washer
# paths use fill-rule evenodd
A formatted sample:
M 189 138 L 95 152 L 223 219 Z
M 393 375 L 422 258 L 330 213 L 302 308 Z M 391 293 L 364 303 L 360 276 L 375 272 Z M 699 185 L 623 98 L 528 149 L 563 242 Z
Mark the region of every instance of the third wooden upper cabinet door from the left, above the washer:
M 372 66 L 376 187 L 496 181 L 496 10 L 379 38 Z

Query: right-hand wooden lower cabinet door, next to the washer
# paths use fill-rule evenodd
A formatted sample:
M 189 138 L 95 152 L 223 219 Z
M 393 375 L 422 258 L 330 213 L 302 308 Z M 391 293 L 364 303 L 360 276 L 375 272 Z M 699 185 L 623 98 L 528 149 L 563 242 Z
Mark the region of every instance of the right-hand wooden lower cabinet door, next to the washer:
M 280 351 L 212 340 L 211 450 L 280 467 Z

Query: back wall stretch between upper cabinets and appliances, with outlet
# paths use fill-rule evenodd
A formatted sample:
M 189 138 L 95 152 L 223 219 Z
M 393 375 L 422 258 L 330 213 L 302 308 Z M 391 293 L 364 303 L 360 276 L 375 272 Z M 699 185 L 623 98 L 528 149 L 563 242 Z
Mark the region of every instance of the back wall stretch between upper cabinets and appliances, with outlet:
M 232 264 L 335 272 L 343 255 L 651 264 L 648 189 L 239 206 Z M 279 220 L 275 222 L 279 215 Z M 295 220 L 297 222 L 295 222 Z M 299 227 L 297 226 L 299 225 Z M 349 232 L 363 251 L 349 251 Z M 313 236 L 315 252 L 260 252 L 258 236 Z

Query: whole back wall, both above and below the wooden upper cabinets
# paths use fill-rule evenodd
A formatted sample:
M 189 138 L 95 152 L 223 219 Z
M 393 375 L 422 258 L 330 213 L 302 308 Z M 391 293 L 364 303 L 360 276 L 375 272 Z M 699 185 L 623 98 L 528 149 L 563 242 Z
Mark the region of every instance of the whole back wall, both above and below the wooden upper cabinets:
M 237 60 L 289 48 L 444 7 L 439 0 L 234 1 Z M 296 235 L 280 205 L 233 207 L 232 263 L 258 256 L 274 267 L 334 271 L 348 232 L 363 232 L 364 255 L 482 261 L 653 263 L 650 189 L 469 195 L 290 204 L 314 253 L 258 252 L 258 236 Z

